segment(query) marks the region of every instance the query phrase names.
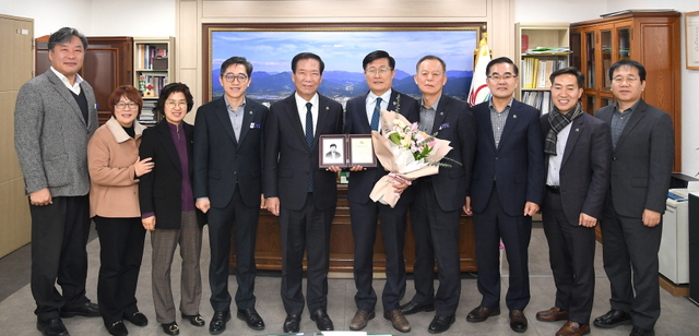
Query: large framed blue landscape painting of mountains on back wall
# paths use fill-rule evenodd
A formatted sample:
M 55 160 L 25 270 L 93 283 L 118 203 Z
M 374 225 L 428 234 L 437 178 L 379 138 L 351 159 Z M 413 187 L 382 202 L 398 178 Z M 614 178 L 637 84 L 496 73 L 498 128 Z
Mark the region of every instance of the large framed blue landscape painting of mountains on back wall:
M 224 94 L 218 82 L 221 63 L 242 56 L 254 68 L 247 95 L 270 105 L 294 92 L 292 58 L 304 51 L 320 56 L 325 63 L 318 89 L 343 106 L 368 92 L 362 60 L 374 50 L 395 58 L 396 91 L 419 97 L 413 80 L 415 64 L 425 55 L 447 63 L 445 93 L 465 100 L 471 86 L 474 50 L 481 38 L 479 23 L 452 24 L 323 24 L 323 25 L 204 25 L 204 103 Z

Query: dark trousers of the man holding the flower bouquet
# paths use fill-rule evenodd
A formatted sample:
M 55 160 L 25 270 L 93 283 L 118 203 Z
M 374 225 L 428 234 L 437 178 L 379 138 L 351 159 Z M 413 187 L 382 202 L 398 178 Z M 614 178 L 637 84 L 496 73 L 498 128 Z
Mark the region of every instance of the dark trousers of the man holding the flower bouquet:
M 374 243 L 377 219 L 381 221 L 381 239 L 386 252 L 386 284 L 381 293 L 383 310 L 398 309 L 405 295 L 405 226 L 407 205 L 389 205 L 376 202 L 364 204 L 350 202 L 352 236 L 354 237 L 354 284 L 357 308 L 372 311 L 377 296 L 374 291 Z

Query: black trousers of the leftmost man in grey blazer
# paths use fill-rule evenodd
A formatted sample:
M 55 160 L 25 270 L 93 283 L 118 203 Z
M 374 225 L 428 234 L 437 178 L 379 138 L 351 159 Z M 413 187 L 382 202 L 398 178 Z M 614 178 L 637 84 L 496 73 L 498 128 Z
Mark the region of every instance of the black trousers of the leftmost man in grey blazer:
M 79 308 L 90 301 L 85 297 L 90 199 L 60 196 L 52 202 L 46 206 L 29 203 L 32 295 L 34 313 L 42 321 L 59 317 L 61 308 Z

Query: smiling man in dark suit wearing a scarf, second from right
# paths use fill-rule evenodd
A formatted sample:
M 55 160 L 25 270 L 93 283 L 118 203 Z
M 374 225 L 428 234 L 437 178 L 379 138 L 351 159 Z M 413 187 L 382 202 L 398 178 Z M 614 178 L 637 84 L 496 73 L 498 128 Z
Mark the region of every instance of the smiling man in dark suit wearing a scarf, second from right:
M 550 74 L 554 109 L 541 117 L 546 166 L 542 216 L 556 283 L 555 305 L 538 321 L 567 320 L 556 335 L 590 333 L 594 297 L 594 227 L 609 189 L 609 125 L 585 113 L 576 68 Z

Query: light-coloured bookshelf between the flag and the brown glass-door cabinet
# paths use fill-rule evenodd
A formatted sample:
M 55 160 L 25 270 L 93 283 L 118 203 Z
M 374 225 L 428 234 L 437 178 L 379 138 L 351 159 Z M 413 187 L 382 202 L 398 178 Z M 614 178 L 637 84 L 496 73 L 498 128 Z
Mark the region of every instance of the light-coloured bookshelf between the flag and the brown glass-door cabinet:
M 567 22 L 518 22 L 514 24 L 516 61 L 520 63 L 516 97 L 543 113 L 550 108 L 548 76 L 568 67 L 570 58 Z

